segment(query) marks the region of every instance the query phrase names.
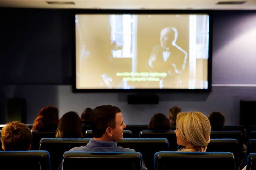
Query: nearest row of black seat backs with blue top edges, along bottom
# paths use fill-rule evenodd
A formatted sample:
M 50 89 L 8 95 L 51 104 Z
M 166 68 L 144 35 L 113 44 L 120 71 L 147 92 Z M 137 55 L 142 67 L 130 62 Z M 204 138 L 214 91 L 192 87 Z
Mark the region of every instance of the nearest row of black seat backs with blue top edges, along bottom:
M 236 170 L 235 159 L 230 152 L 175 152 L 161 151 L 154 154 L 154 170 Z M 255 154 L 251 154 L 248 167 L 255 167 Z M 143 155 L 139 152 L 81 152 L 68 151 L 63 154 L 63 170 L 124 169 L 141 170 Z M 203 163 L 202 163 L 203 162 Z M 1 165 L 8 169 L 50 170 L 48 151 L 1 151 Z M 52 168 L 53 169 L 53 168 Z M 85 168 L 86 169 L 86 168 Z M 247 168 L 247 170 L 252 170 Z

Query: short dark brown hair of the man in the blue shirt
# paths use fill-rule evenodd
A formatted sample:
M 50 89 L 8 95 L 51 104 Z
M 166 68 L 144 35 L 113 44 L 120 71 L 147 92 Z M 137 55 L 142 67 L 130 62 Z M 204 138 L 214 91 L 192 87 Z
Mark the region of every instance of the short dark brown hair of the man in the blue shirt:
M 95 138 L 100 138 L 108 127 L 115 128 L 116 114 L 121 110 L 112 105 L 102 105 L 92 110 L 91 128 Z

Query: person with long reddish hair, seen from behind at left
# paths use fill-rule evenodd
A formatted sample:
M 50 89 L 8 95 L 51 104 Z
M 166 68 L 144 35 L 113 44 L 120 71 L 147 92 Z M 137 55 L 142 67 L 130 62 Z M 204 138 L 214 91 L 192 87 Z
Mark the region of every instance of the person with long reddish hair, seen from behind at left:
M 59 123 L 59 110 L 54 106 L 46 106 L 42 108 L 34 120 L 31 130 L 56 130 Z

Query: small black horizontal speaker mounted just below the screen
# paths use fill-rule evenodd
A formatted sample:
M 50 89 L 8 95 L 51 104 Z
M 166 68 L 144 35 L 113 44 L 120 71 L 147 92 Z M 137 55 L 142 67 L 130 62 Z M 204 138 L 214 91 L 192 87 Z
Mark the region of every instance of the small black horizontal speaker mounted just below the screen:
M 128 104 L 158 104 L 159 96 L 151 94 L 137 94 L 127 96 Z

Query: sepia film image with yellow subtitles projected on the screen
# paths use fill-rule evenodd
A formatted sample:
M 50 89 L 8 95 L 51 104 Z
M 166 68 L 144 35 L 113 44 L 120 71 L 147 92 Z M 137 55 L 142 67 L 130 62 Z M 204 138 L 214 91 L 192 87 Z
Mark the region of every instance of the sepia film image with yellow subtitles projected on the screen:
M 77 89 L 208 89 L 207 14 L 79 14 Z

